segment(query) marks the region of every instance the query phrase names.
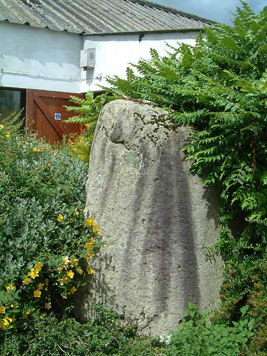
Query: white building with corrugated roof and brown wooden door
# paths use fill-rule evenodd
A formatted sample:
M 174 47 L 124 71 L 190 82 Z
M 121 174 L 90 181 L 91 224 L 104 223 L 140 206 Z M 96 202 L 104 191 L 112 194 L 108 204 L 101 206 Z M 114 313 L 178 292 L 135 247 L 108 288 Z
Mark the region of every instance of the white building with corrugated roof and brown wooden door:
M 211 23 L 143 0 L 0 0 L 0 112 L 24 107 L 35 129 L 47 135 L 46 120 L 61 136 L 70 93 L 124 77 L 150 48 L 164 55 L 166 42 L 194 44 Z

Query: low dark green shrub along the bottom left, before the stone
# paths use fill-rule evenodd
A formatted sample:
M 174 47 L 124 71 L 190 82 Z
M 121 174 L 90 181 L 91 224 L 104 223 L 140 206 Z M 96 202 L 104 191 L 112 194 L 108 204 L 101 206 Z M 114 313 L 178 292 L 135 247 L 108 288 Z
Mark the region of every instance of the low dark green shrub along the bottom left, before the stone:
M 53 314 L 34 323 L 25 322 L 19 334 L 5 336 L 1 356 L 152 356 L 168 351 L 157 340 L 140 337 L 137 327 L 111 310 L 98 306 L 95 321 L 58 320 Z

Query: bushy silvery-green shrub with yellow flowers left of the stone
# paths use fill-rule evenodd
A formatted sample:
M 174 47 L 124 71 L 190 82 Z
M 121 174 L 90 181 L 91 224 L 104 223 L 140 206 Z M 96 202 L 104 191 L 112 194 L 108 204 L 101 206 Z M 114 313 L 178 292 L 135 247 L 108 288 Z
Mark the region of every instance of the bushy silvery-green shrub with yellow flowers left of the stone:
M 94 273 L 99 226 L 84 219 L 87 167 L 61 146 L 0 125 L 0 333 L 62 315 Z

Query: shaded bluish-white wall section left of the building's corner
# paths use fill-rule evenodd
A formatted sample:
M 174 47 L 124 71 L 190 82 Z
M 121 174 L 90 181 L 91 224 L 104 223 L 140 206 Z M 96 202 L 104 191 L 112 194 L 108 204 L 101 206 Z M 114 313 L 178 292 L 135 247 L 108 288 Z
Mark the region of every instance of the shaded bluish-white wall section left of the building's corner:
M 80 93 L 82 37 L 0 22 L 0 86 Z

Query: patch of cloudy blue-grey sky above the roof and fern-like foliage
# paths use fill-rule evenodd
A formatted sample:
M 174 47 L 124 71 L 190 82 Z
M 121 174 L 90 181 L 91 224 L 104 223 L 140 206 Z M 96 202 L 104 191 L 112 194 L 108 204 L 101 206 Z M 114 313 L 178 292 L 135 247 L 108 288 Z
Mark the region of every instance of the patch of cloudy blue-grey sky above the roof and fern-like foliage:
M 232 18 L 229 10 L 233 12 L 236 6 L 240 6 L 239 0 L 153 0 L 153 3 L 227 24 L 231 24 Z M 267 6 L 267 0 L 246 0 L 246 3 L 256 14 Z

